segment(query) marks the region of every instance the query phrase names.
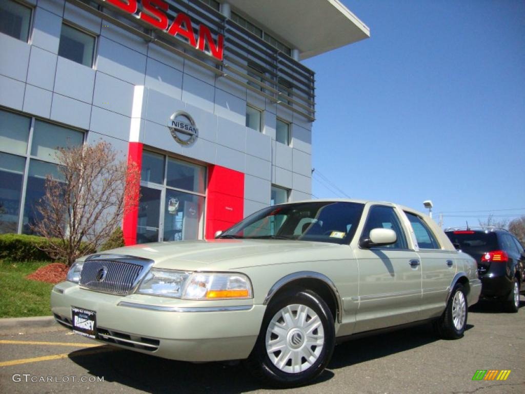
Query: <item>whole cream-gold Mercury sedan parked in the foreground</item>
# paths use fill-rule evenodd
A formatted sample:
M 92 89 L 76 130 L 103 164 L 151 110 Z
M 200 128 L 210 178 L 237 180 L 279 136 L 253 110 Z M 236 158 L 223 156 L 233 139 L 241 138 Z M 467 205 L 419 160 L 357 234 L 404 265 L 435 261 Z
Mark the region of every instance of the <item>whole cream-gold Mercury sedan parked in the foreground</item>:
M 477 265 L 427 216 L 386 202 L 262 209 L 211 241 L 135 245 L 81 258 L 51 293 L 57 321 L 104 343 L 185 361 L 245 360 L 303 385 L 336 340 L 407 323 L 460 338 Z

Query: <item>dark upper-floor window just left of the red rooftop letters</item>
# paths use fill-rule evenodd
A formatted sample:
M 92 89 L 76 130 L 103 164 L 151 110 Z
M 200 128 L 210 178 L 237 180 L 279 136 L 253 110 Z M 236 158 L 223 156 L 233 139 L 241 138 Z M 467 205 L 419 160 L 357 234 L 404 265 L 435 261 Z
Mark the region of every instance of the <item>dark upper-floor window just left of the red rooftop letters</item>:
M 95 53 L 95 37 L 62 24 L 58 55 L 91 67 Z

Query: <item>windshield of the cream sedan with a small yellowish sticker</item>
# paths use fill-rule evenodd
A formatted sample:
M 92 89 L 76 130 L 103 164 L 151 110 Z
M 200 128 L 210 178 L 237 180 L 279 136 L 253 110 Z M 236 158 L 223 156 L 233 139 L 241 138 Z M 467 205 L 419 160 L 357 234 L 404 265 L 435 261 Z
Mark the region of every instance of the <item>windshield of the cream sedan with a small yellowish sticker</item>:
M 282 239 L 348 244 L 363 204 L 313 201 L 269 206 L 239 222 L 218 238 Z

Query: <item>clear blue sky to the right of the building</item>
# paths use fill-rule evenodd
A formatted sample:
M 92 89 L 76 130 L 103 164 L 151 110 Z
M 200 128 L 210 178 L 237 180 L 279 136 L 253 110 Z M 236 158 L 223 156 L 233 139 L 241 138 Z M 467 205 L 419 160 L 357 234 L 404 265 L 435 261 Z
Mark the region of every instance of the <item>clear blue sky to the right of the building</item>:
M 342 2 L 371 38 L 304 61 L 313 194 L 344 196 L 324 175 L 352 198 L 431 199 L 444 226 L 525 215 L 525 2 Z

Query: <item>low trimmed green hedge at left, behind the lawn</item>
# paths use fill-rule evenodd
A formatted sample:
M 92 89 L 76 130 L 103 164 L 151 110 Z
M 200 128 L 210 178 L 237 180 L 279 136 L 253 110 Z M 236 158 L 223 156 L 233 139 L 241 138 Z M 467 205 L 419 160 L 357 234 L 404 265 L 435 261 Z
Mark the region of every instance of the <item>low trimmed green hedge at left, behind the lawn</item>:
M 50 241 L 44 237 L 36 235 L 0 234 L 0 260 L 51 261 L 53 259 L 49 254 L 39 249 L 48 242 Z

